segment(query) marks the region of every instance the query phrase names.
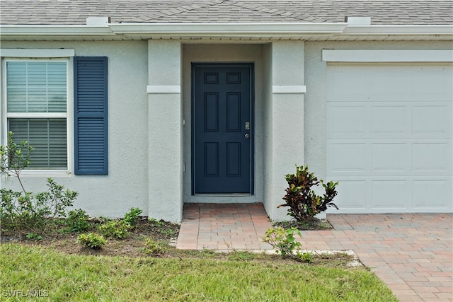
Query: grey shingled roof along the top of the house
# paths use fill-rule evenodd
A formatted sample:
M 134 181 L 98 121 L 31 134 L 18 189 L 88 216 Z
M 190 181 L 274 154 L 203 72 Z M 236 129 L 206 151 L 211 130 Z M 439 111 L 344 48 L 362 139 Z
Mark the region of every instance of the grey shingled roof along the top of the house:
M 371 17 L 373 25 L 453 24 L 452 0 L 1 0 L 3 25 L 112 23 L 340 23 Z

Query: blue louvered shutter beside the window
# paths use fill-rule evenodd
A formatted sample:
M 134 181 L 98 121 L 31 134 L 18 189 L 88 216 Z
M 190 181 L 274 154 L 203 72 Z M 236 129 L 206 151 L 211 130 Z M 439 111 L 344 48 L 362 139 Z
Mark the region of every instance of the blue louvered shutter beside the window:
M 74 173 L 107 175 L 107 57 L 74 57 Z

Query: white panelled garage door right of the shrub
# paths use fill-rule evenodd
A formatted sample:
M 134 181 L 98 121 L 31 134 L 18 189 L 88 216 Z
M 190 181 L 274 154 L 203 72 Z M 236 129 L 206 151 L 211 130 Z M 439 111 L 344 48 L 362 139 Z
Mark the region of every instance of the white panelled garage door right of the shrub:
M 328 64 L 327 179 L 340 182 L 341 212 L 452 212 L 452 74 Z

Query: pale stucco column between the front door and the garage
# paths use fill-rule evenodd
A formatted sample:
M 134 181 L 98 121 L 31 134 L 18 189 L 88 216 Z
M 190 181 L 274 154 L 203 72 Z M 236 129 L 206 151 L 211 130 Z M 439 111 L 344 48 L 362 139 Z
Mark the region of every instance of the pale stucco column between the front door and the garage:
M 288 220 L 283 203 L 287 182 L 294 165 L 304 164 L 304 42 L 279 41 L 272 45 L 272 141 L 270 196 L 265 207 L 270 219 Z

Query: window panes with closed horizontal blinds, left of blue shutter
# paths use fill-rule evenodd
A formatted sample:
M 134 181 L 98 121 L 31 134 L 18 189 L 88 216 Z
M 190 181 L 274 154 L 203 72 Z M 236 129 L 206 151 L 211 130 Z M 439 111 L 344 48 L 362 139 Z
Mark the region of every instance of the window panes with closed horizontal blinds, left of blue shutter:
M 30 169 L 68 169 L 69 60 L 6 61 L 6 124 L 33 146 Z

